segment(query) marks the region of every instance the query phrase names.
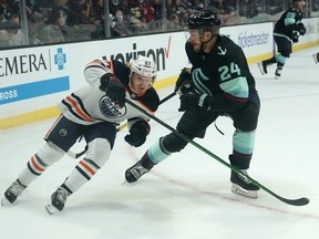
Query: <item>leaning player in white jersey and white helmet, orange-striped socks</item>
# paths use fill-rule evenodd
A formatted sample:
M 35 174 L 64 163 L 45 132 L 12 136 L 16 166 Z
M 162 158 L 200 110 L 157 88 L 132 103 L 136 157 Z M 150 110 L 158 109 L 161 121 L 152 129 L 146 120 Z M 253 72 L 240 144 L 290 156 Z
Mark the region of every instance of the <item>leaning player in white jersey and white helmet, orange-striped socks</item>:
M 89 85 L 66 96 L 59 108 L 62 114 L 47 133 L 45 144 L 31 156 L 18 179 L 4 191 L 2 205 L 13 204 L 22 191 L 44 170 L 61 159 L 83 137 L 85 157 L 51 196 L 49 214 L 63 210 L 70 195 L 88 183 L 109 159 L 116 137 L 116 126 L 127 119 L 125 141 L 141 146 L 150 133 L 148 117 L 125 104 L 125 97 L 154 114 L 160 98 L 152 86 L 156 64 L 151 58 L 137 56 L 128 65 L 120 61 L 90 62 L 84 69 Z

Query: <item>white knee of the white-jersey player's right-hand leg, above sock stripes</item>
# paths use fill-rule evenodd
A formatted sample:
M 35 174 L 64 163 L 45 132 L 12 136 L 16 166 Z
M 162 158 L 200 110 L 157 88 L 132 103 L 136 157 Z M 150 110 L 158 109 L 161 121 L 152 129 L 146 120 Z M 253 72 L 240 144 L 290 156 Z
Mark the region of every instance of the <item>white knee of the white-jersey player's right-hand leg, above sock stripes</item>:
M 88 144 L 85 158 L 94 162 L 100 168 L 111 155 L 111 144 L 106 138 L 94 138 Z

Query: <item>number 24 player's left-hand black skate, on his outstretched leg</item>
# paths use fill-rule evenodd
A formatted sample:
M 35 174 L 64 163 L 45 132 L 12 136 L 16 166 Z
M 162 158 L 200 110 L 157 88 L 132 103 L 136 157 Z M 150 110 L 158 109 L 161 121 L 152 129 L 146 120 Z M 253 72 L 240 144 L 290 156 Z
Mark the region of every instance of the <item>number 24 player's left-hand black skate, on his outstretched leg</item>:
M 141 160 L 125 170 L 126 181 L 130 184 L 137 181 L 138 178 L 144 174 L 147 174 L 154 167 L 154 165 L 155 164 L 151 162 L 146 152 Z

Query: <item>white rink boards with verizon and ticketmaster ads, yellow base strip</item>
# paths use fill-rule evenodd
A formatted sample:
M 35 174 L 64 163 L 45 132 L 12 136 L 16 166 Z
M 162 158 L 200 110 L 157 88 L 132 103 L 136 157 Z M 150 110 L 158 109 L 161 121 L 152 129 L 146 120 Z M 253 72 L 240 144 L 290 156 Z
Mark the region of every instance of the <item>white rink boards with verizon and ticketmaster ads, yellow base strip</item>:
M 317 19 L 306 19 L 307 34 L 295 48 L 319 43 Z M 248 63 L 274 52 L 274 23 L 225 27 L 220 33 L 243 48 Z M 128 62 L 138 54 L 157 63 L 155 87 L 174 84 L 189 66 L 185 32 L 138 35 L 0 51 L 0 129 L 59 114 L 56 105 L 73 91 L 86 86 L 83 70 L 95 59 Z

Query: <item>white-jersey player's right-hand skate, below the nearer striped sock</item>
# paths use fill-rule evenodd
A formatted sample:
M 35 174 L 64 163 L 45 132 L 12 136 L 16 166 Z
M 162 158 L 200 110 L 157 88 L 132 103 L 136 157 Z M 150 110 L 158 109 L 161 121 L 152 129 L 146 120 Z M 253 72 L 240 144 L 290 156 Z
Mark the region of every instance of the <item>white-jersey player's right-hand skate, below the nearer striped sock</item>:
M 62 211 L 70 193 L 64 187 L 59 187 L 51 196 L 51 205 L 47 205 L 45 209 L 49 215 Z

